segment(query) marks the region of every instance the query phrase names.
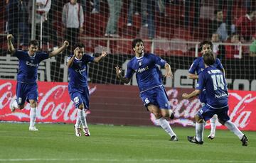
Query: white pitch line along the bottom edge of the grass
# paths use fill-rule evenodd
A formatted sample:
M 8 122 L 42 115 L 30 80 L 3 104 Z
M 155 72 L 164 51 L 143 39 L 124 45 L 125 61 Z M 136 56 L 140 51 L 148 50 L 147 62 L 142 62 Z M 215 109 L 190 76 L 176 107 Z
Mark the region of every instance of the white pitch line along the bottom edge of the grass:
M 43 158 L 31 158 L 31 159 L 0 159 L 0 162 L 39 162 L 39 161 L 48 161 L 48 162 L 78 162 L 78 161 L 90 161 L 90 162 L 245 162 L 251 163 L 255 161 L 247 160 L 208 160 L 208 159 L 93 159 L 93 158 L 80 158 L 80 159 L 43 159 Z

